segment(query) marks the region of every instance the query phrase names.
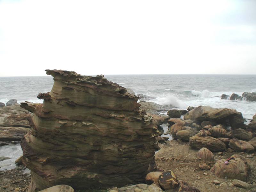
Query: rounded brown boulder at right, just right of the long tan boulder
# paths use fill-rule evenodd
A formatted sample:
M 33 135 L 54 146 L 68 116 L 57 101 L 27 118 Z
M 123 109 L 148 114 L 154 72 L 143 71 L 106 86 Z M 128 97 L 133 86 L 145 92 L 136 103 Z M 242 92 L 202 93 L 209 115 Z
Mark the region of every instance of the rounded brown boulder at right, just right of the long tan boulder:
M 243 140 L 231 139 L 228 145 L 231 149 L 238 152 L 252 153 L 254 151 L 254 147 Z

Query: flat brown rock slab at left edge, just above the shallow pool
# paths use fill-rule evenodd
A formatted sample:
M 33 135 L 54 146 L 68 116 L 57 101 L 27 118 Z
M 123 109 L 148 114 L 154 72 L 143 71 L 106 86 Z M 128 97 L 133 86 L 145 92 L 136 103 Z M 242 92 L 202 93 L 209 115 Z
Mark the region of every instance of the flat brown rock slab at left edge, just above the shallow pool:
M 0 127 L 0 141 L 20 141 L 30 130 L 25 127 Z

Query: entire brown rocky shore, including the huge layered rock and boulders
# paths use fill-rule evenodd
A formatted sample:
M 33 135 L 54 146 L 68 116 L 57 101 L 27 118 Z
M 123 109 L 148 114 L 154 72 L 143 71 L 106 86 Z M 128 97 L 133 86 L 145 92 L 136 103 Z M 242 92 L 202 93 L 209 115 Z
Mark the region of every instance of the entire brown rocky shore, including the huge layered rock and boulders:
M 0 192 L 256 191 L 256 115 L 246 125 L 234 109 L 173 109 L 104 76 L 47 73 L 44 104 L 0 108 L 0 146 L 23 150 L 21 165 L 0 171 Z

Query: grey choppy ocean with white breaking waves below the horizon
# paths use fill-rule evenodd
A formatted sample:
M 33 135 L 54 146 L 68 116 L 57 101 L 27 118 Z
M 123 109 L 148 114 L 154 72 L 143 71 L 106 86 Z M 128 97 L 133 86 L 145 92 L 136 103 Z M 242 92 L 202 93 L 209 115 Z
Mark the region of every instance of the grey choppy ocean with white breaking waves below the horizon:
M 105 75 L 109 81 L 131 88 L 136 94 L 153 96 L 149 101 L 186 109 L 199 105 L 233 108 L 252 119 L 256 102 L 222 100 L 222 94 L 256 92 L 256 75 Z M 52 76 L 0 77 L 0 102 L 43 102 L 39 92 L 51 91 Z

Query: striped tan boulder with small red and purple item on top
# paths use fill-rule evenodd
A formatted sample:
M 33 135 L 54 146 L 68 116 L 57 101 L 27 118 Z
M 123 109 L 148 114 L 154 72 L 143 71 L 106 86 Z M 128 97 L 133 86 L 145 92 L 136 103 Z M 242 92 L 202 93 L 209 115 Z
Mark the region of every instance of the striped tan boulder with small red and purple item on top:
M 231 159 L 228 164 L 225 164 L 226 159 L 218 160 L 210 171 L 223 179 L 227 177 L 227 179 L 246 181 L 251 170 L 247 160 L 240 155 L 233 155 L 231 157 L 234 157 L 234 159 Z

